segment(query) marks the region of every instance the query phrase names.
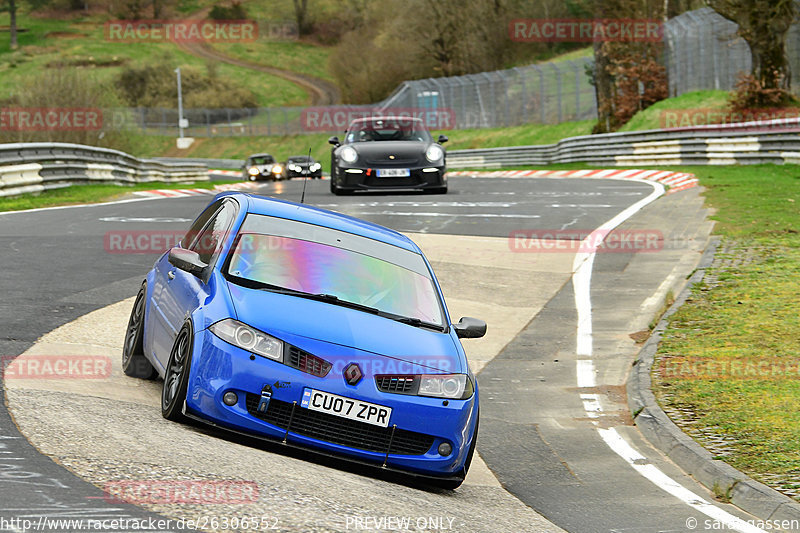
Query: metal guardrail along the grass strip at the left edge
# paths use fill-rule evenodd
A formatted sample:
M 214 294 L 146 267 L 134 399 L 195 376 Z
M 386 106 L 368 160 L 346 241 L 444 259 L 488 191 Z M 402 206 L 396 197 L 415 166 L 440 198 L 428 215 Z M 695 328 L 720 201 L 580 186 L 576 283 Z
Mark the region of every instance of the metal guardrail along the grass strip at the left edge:
M 107 148 L 67 143 L 0 144 L 0 196 L 41 192 L 76 183 L 208 179 L 196 162 L 138 159 Z

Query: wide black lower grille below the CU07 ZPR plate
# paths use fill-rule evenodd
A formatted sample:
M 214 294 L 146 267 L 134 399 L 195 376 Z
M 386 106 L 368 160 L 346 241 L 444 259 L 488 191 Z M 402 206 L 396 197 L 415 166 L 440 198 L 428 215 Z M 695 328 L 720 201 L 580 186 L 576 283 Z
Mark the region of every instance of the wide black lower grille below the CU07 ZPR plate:
M 275 399 L 270 400 L 267 412 L 262 414 L 257 410 L 259 398 L 258 394 L 247 394 L 247 412 L 281 429 L 287 428 L 291 417 L 290 431 L 292 433 L 370 452 L 386 453 L 389 446 L 391 427 L 373 426 L 328 413 L 312 411 L 299 405 L 295 408 L 294 416 L 292 416 L 292 404 Z M 423 455 L 430 450 L 431 446 L 433 446 L 432 436 L 397 429 L 394 432 L 390 453 Z

